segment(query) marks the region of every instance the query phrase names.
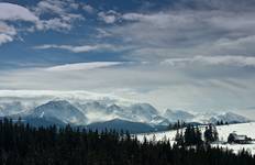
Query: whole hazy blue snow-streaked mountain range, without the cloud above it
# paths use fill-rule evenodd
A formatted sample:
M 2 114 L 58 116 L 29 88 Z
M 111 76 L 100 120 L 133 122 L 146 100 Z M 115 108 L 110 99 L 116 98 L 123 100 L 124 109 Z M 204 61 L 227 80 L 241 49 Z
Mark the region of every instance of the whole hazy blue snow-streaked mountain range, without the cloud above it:
M 149 103 L 119 105 L 117 102 L 92 101 L 67 101 L 52 100 L 40 103 L 30 103 L 25 100 L 8 102 L 0 101 L 0 116 L 18 119 L 22 117 L 31 123 L 70 123 L 74 125 L 87 125 L 90 123 L 102 123 L 114 119 L 135 123 L 146 123 L 152 127 L 168 125 L 177 120 L 196 123 L 208 123 L 217 121 L 248 122 L 250 120 L 235 113 L 203 112 L 192 113 L 184 110 L 167 109 L 163 114 Z M 37 122 L 36 122 L 37 121 Z

